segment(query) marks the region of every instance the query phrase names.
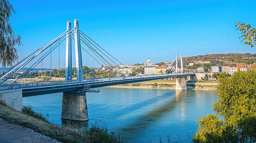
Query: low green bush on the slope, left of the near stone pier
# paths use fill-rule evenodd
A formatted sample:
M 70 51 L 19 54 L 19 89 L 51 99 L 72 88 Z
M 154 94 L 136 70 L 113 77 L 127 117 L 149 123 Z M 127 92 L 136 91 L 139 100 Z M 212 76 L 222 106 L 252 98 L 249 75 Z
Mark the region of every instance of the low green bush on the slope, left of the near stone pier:
M 22 113 L 24 114 L 27 114 L 29 116 L 32 116 L 34 118 L 37 118 L 39 120 L 42 120 L 42 121 L 45 121 L 45 122 L 48 122 L 47 120 L 47 117 L 49 116 L 48 114 L 46 115 L 46 117 L 41 114 L 41 113 L 38 113 L 38 112 L 35 112 L 34 110 L 32 110 L 33 107 L 31 105 L 27 105 L 27 106 L 23 106 L 22 108 Z

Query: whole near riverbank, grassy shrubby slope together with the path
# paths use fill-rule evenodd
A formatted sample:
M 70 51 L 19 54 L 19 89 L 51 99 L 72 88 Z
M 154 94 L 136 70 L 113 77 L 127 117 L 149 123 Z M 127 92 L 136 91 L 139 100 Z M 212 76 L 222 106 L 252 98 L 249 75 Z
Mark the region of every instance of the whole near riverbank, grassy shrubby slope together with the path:
M 28 115 L 31 114 L 31 115 Z M 35 115 L 37 117 L 35 117 Z M 40 113 L 36 113 L 32 111 L 32 108 L 27 110 L 26 112 L 19 112 L 11 107 L 7 106 L 1 99 L 0 99 L 0 118 L 2 118 L 5 121 L 2 121 L 0 123 L 3 123 L 0 125 L 1 132 L 5 132 L 12 130 L 12 132 L 6 132 L 5 134 L 1 133 L 1 138 L 3 140 L 8 141 L 9 139 L 15 140 L 18 142 L 23 142 L 24 136 L 19 136 L 18 133 L 24 133 L 26 134 L 26 131 L 30 134 L 28 136 L 28 139 L 24 140 L 24 142 L 45 142 L 46 136 L 48 136 L 48 141 L 46 142 L 63 142 L 63 143 L 82 143 L 82 142 L 113 142 L 117 143 L 118 141 L 114 134 L 109 134 L 108 130 L 106 128 L 99 128 L 96 126 L 91 126 L 88 128 L 77 128 L 76 124 L 68 124 L 66 126 L 57 126 L 49 121 L 46 120 L 46 117 L 44 117 Z M 7 123 L 8 122 L 8 123 Z M 11 128 L 7 128 L 8 126 Z M 15 126 L 15 125 L 17 126 Z M 13 126 L 13 127 L 12 127 Z M 22 126 L 22 127 L 21 127 Z M 25 127 L 25 128 L 23 128 Z M 31 129 L 31 130 L 30 130 Z M 24 132 L 23 132 L 24 131 Z M 41 137 L 41 134 L 43 137 Z M 3 135 L 2 135 L 3 134 Z M 11 134 L 11 135 L 9 135 Z M 15 138 L 11 138 L 11 136 L 15 136 Z M 10 138 L 8 138 L 10 137 Z M 35 137 L 33 141 L 30 141 L 30 137 Z M 52 140 L 55 139 L 55 140 Z M 1 139 L 2 140 L 2 139 Z M 43 140 L 43 141 L 40 141 Z M 10 142 L 15 142 L 10 141 Z

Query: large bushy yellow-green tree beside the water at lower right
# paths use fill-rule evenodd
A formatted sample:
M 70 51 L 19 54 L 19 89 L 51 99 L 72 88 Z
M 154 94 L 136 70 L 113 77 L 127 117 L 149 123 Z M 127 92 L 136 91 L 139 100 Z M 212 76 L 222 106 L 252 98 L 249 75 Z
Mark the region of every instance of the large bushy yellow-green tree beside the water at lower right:
M 256 71 L 240 70 L 228 78 L 218 76 L 217 115 L 202 116 L 193 137 L 195 143 L 256 142 Z

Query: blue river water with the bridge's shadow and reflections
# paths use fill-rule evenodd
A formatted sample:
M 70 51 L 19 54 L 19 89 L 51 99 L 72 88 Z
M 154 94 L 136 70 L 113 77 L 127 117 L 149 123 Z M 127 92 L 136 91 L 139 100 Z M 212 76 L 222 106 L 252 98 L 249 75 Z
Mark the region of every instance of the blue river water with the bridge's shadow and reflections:
M 79 127 L 96 124 L 107 127 L 125 142 L 188 143 L 196 132 L 196 120 L 214 113 L 217 91 L 101 88 L 100 93 L 87 93 L 89 120 L 76 122 Z M 49 121 L 62 126 L 62 93 L 24 97 L 23 105 L 49 114 Z

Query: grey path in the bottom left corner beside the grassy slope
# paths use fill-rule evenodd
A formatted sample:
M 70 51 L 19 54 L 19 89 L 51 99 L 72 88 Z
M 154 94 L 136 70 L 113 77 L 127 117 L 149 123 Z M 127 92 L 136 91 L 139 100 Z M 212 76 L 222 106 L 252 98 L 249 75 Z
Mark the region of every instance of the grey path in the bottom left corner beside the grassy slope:
M 20 125 L 10 124 L 0 118 L 0 143 L 60 143 Z

